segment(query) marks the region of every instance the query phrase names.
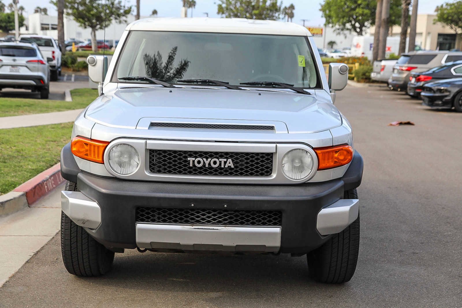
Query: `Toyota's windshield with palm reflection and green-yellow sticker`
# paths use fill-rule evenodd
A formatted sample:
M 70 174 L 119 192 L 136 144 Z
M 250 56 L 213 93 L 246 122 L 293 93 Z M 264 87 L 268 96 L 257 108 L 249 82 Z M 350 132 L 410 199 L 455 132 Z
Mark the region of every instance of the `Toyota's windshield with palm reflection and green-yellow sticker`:
M 321 84 L 304 36 L 132 31 L 119 59 L 114 82 L 139 76 L 169 83 L 211 79 L 231 85 L 273 81 L 315 88 Z

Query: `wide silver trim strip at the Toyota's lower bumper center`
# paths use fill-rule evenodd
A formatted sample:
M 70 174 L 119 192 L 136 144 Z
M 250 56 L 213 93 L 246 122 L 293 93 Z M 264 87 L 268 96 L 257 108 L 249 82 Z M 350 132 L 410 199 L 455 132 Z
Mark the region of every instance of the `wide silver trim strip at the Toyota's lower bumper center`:
M 146 249 L 277 252 L 281 228 L 136 223 L 136 245 Z

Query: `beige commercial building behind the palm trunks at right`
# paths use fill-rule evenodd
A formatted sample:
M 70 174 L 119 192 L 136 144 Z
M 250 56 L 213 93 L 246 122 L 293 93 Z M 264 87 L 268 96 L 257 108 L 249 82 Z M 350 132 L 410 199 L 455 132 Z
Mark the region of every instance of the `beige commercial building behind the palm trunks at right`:
M 461 35 L 456 35 L 453 30 L 441 23 L 433 24 L 435 18 L 436 15 L 434 14 L 417 15 L 416 45 L 420 45 L 427 50 L 450 50 L 454 48 L 462 50 Z M 372 27 L 369 32 L 374 35 L 374 31 L 375 27 Z M 401 27 L 393 26 L 390 36 L 400 35 Z M 407 37 L 409 37 L 409 30 L 407 31 Z

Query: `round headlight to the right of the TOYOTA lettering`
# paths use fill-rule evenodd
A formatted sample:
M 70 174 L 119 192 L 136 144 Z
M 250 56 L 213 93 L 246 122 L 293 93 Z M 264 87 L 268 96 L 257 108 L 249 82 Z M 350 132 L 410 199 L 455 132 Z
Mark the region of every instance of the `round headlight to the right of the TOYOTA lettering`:
M 313 157 L 303 149 L 289 151 L 282 158 L 282 171 L 292 180 L 302 180 L 313 170 Z

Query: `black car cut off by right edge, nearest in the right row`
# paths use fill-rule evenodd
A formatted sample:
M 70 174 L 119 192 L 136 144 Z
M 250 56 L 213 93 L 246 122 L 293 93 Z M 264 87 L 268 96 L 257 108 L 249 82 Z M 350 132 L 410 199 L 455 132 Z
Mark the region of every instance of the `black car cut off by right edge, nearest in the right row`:
M 452 108 L 462 112 L 462 78 L 443 79 L 424 86 L 420 94 L 424 105 L 436 108 Z

